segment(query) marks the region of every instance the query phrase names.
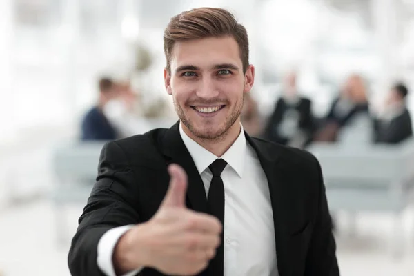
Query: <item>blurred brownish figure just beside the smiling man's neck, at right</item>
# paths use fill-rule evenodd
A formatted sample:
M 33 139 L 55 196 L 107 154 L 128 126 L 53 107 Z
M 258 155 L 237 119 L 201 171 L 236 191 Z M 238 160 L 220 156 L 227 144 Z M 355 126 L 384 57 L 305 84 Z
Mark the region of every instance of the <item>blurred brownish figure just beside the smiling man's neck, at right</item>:
M 244 96 L 244 103 L 241 115 L 241 122 L 244 130 L 253 137 L 260 135 L 262 125 L 260 121 L 259 110 L 251 92 Z

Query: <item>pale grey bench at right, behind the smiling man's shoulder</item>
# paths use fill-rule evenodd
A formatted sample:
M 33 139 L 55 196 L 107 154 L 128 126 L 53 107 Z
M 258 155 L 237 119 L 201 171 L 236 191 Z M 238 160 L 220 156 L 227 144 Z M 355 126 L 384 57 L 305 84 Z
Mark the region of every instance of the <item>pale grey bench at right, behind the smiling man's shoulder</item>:
M 395 217 L 393 253 L 400 255 L 401 215 L 412 203 L 414 140 L 399 145 L 314 144 L 331 212 L 387 212 Z

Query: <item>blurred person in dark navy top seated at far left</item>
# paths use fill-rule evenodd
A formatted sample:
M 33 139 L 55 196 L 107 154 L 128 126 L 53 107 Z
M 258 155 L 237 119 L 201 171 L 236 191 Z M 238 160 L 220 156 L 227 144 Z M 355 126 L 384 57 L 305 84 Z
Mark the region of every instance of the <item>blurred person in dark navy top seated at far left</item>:
M 103 111 L 112 99 L 119 97 L 119 91 L 112 79 L 99 79 L 99 99 L 97 106 L 92 107 L 82 119 L 81 140 L 109 141 L 119 138 L 117 130 L 112 126 Z

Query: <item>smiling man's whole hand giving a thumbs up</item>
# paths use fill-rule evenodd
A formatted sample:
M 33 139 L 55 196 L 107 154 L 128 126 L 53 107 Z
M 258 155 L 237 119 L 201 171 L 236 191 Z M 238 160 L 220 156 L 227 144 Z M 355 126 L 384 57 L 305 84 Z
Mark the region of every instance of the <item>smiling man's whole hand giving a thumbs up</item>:
M 211 215 L 186 208 L 187 175 L 177 164 L 168 167 L 170 186 L 157 213 L 125 236 L 129 259 L 168 275 L 195 275 L 208 266 L 220 243 L 222 226 Z M 131 263 L 130 263 L 131 264 Z

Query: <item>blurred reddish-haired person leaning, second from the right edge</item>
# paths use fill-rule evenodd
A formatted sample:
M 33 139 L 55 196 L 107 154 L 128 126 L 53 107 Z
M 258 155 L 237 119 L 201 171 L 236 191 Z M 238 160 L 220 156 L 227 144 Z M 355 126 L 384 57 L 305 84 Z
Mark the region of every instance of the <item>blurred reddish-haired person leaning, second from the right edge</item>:
M 368 99 L 364 80 L 359 75 L 346 79 L 344 87 L 322 120 L 314 141 L 337 141 L 339 132 L 359 115 L 368 116 Z

